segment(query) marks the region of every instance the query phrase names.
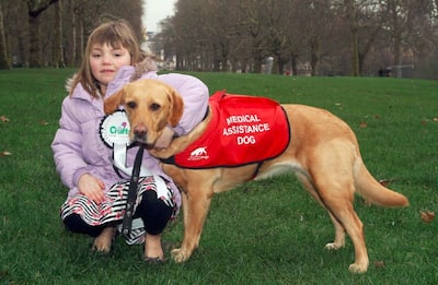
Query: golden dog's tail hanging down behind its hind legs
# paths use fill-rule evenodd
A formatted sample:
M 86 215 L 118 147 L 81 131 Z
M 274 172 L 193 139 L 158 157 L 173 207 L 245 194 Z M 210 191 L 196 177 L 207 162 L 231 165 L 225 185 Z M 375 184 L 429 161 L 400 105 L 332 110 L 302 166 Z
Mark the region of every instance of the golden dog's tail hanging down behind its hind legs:
M 407 206 L 410 204 L 406 197 L 378 182 L 361 159 L 355 171 L 355 181 L 356 191 L 373 204 L 382 206 Z

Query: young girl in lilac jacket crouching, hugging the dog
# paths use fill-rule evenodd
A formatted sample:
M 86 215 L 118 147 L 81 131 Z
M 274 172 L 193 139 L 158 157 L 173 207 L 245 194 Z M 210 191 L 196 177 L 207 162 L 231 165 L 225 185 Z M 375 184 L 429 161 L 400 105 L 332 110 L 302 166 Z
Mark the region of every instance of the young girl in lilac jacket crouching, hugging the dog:
M 134 67 L 137 63 L 143 72 Z M 120 144 L 118 139 L 111 139 L 104 126 L 116 123 L 122 128 L 126 121 L 123 116 L 122 124 L 118 117 L 105 117 L 103 102 L 138 78 L 163 81 L 184 99 L 178 126 L 169 127 L 154 147 L 166 147 L 175 134 L 189 132 L 203 120 L 205 111 L 200 110 L 208 106 L 208 88 L 199 80 L 183 74 L 157 74 L 153 59 L 141 51 L 126 22 L 107 22 L 91 33 L 79 72 L 69 82 L 69 96 L 62 102 L 60 127 L 51 150 L 56 169 L 70 189 L 61 206 L 61 219 L 69 230 L 94 237 L 93 249 L 97 251 L 110 251 L 116 229 L 120 228 L 138 151 L 129 142 Z M 145 171 L 138 181 L 135 219 L 126 241 L 145 242 L 145 260 L 157 263 L 164 260 L 161 235 L 177 213 L 181 197 L 158 159 L 148 152 L 141 166 Z

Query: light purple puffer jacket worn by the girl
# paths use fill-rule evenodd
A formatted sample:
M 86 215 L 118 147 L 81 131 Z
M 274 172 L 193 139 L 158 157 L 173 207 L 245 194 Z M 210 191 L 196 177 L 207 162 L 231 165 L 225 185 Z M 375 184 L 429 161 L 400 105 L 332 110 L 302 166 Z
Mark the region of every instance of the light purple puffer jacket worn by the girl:
M 135 71 L 134 67 L 122 68 L 115 80 L 110 83 L 105 98 L 120 90 Z M 178 124 L 174 128 L 177 134 L 186 134 L 199 123 L 208 107 L 208 88 L 198 79 L 183 74 L 158 75 L 154 71 L 143 74 L 141 78 L 157 79 L 173 86 L 184 99 L 184 114 Z M 62 102 L 62 112 L 59 120 L 59 129 L 56 132 L 51 150 L 56 169 L 69 191 L 69 197 L 79 192 L 79 178 L 88 173 L 105 182 L 106 191 L 120 179 L 113 168 L 113 151 L 107 147 L 100 136 L 100 123 L 105 116 L 103 99 L 92 98 L 81 85 L 78 85 L 71 96 Z M 126 164 L 132 166 L 138 147 L 128 150 Z M 145 152 L 142 166 L 154 175 L 163 176 L 172 181 L 161 167 L 159 161 L 148 152 Z M 129 177 L 125 177 L 126 180 Z M 181 205 L 181 195 L 172 181 L 177 205 Z

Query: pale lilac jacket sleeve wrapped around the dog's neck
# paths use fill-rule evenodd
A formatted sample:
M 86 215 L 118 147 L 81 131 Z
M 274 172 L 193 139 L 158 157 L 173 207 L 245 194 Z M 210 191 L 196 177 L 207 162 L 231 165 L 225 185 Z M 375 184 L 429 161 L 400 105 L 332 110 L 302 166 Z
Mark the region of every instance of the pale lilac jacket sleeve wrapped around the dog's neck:
M 173 86 L 183 97 L 184 112 L 174 131 L 178 135 L 191 132 L 205 117 L 208 108 L 208 87 L 200 80 L 185 74 L 159 75 L 158 80 Z

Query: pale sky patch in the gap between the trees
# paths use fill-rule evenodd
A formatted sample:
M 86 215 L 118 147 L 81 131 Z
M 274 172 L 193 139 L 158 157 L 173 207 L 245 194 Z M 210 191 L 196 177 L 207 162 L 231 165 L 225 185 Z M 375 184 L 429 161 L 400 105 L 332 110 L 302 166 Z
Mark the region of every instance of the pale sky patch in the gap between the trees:
M 158 23 L 173 15 L 176 0 L 142 0 L 145 5 L 143 25 L 148 32 L 159 32 Z

